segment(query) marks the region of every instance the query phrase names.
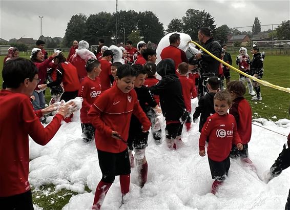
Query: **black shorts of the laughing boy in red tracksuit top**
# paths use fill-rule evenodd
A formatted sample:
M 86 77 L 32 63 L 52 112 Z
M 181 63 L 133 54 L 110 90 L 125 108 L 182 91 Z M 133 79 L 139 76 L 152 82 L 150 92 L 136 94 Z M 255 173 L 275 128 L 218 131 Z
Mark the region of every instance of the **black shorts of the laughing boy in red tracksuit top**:
M 113 183 L 115 176 L 131 173 L 128 149 L 121 153 L 98 151 L 99 166 L 102 172 L 102 181 Z

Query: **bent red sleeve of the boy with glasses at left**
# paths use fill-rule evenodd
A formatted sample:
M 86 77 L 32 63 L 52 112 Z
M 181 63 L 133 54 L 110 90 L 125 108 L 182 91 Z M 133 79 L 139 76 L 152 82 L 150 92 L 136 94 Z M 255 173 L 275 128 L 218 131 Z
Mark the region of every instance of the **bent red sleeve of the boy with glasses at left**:
M 64 119 L 62 115 L 56 114 L 47 127 L 44 128 L 34 113 L 28 98 L 19 104 L 19 109 L 21 110 L 22 121 L 29 136 L 40 145 L 46 145 L 53 138 L 60 127 L 61 120 Z

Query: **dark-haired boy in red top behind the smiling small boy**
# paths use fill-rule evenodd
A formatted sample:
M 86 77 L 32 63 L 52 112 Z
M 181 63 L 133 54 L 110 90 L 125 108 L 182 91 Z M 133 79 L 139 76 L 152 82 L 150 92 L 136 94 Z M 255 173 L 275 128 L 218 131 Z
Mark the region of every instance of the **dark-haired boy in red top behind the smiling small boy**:
M 230 108 L 230 114 L 235 117 L 238 133 L 242 140 L 243 150 L 239 151 L 233 144 L 231 158 L 241 157 L 241 160 L 254 167 L 252 161 L 248 158 L 248 145 L 252 135 L 252 110 L 250 104 L 243 97 L 246 93 L 244 83 L 240 80 L 233 80 L 227 84 L 227 90 L 233 101 Z

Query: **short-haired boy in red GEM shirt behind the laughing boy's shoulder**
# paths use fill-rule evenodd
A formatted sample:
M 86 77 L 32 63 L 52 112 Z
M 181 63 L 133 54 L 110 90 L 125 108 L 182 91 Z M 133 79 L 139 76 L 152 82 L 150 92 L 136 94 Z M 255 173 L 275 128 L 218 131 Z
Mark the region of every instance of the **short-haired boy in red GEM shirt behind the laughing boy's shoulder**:
M 88 112 L 97 96 L 101 94 L 101 85 L 98 77 L 101 72 L 100 62 L 97 59 L 89 59 L 86 64 L 86 70 L 88 76 L 80 83 L 78 96 L 84 99 L 80 109 L 82 136 L 85 142 L 89 142 L 94 139 L 95 128 L 88 117 Z

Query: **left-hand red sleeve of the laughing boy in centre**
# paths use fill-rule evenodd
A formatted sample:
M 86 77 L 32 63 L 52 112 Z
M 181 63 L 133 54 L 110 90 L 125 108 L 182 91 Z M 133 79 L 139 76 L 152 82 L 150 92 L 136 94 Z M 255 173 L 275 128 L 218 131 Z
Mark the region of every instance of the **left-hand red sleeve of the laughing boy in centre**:
M 113 130 L 108 125 L 106 125 L 106 123 L 101 119 L 101 115 L 104 111 L 103 107 L 104 108 L 106 107 L 106 104 L 108 104 L 107 101 L 108 100 L 107 100 L 106 95 L 101 94 L 97 98 L 93 106 L 91 106 L 88 116 L 91 120 L 91 123 L 97 130 L 99 130 L 106 136 L 111 136 Z

